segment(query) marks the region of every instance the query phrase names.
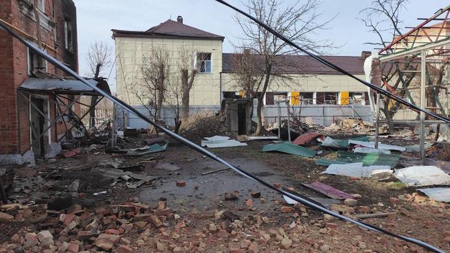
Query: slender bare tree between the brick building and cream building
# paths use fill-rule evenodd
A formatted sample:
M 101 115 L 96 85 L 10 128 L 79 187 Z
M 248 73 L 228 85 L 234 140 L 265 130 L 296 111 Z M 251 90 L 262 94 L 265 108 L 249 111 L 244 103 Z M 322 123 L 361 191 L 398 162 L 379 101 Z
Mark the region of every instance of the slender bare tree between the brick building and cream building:
M 98 78 L 100 73 L 111 66 L 111 47 L 103 41 L 95 41 L 89 47 L 87 53 L 87 62 L 89 66 L 89 77 Z M 96 109 L 98 96 L 91 96 L 91 104 L 89 106 L 89 125 L 96 125 Z

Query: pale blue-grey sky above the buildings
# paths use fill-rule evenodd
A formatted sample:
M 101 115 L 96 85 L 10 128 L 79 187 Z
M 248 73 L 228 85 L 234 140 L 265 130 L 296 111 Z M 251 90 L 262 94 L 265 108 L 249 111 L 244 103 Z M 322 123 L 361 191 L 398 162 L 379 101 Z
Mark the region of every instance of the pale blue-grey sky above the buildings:
M 147 30 L 161 22 L 177 16 L 183 17 L 184 24 L 201 30 L 213 32 L 226 37 L 223 45 L 224 53 L 233 52 L 230 41 L 235 41 L 241 32 L 233 21 L 235 12 L 214 0 L 74 0 L 78 15 L 78 48 L 80 57 L 80 73 L 87 74 L 86 55 L 93 41 L 105 41 L 114 49 L 111 29 Z M 246 0 L 242 0 L 246 1 Z M 228 0 L 235 6 L 242 7 L 240 0 Z M 289 3 L 291 0 L 285 0 Z M 359 10 L 370 5 L 372 0 L 323 0 L 323 18 L 336 19 L 330 24 L 330 30 L 318 35 L 331 39 L 336 45 L 342 45 L 335 55 L 360 55 L 362 50 L 372 50 L 365 45 L 366 41 L 374 41 L 374 35 L 367 32 L 359 17 Z M 401 19 L 404 26 L 417 26 L 417 17 L 430 17 L 438 9 L 449 4 L 449 0 L 410 0 L 408 10 L 404 10 Z M 103 73 L 109 75 L 109 69 Z M 109 84 L 116 87 L 114 69 L 109 77 Z

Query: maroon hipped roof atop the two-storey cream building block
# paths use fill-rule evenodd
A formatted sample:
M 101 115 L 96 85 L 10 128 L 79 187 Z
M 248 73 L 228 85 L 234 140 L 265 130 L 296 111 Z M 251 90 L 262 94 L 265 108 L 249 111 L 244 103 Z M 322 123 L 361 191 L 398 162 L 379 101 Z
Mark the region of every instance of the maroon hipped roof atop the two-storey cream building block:
M 158 26 L 154 26 L 145 32 L 129 30 L 112 30 L 114 37 L 170 37 L 170 38 L 196 38 L 196 39 L 219 39 L 225 37 L 215 35 L 204 30 L 187 26 L 181 22 L 168 19 Z

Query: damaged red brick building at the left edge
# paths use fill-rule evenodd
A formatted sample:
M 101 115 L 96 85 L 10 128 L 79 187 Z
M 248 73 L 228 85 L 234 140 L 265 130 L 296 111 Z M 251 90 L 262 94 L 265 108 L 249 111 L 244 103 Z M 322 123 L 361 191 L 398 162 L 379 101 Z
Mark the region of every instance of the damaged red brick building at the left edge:
M 76 8 L 72 0 L 0 0 L 0 19 L 73 71 L 78 72 Z M 37 17 L 36 17 L 37 14 Z M 39 31 L 37 29 L 39 21 Z M 62 76 L 62 71 L 28 50 L 0 29 L 0 164 L 28 150 L 36 156 L 57 140 L 59 123 L 50 124 L 57 113 L 55 96 L 19 94 L 18 88 L 30 77 Z M 48 75 L 48 74 L 49 75 Z M 33 103 L 33 104 L 30 104 Z M 39 109 L 39 110 L 37 110 Z M 42 117 L 42 110 L 46 118 Z M 39 113 L 41 115 L 39 115 Z M 50 119 L 50 120 L 49 120 Z M 35 128 L 31 129 L 30 125 Z M 48 131 L 39 138 L 39 131 Z M 32 143 L 33 138 L 39 138 Z

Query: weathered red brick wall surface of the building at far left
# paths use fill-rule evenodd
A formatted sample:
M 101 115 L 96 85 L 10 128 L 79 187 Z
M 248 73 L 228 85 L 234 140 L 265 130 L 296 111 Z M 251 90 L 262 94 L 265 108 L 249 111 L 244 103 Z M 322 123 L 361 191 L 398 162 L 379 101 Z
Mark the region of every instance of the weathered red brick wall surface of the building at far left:
M 13 26 L 37 38 L 37 24 L 33 15 L 25 15 L 28 10 L 28 0 L 0 0 L 0 18 Z M 33 0 L 30 0 L 33 2 Z M 31 11 L 33 12 L 33 11 Z M 78 71 L 78 48 L 76 32 L 76 9 L 72 0 L 46 0 L 45 15 L 54 28 L 41 28 L 42 42 L 47 44 L 46 52 L 61 62 L 71 65 Z M 73 24 L 73 52 L 68 52 L 64 46 L 64 19 L 72 19 Z M 32 38 L 27 38 L 33 40 Z M 36 43 L 36 41 L 35 41 Z M 28 123 L 28 102 L 17 97 L 17 87 L 28 77 L 28 55 L 26 46 L 17 39 L 0 30 L 0 154 L 24 153 L 30 144 L 30 128 Z M 57 73 L 55 67 L 48 63 L 47 72 Z M 53 96 L 50 96 L 54 99 Z M 18 106 L 21 104 L 22 106 Z M 55 118 L 55 105 L 51 102 L 49 111 L 51 120 Z M 54 133 L 62 133 L 64 129 L 53 125 Z

